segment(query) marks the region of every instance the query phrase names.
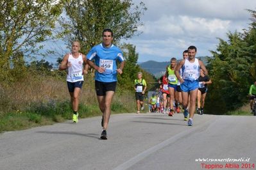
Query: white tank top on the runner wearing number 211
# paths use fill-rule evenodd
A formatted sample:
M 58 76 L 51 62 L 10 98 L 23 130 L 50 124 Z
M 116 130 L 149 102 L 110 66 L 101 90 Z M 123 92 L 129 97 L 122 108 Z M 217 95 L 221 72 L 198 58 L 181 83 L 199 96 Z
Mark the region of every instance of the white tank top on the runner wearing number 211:
M 78 58 L 74 58 L 71 53 L 69 53 L 69 58 L 67 63 L 71 63 L 71 66 L 67 69 L 67 81 L 77 82 L 83 81 L 83 56 L 81 53 Z

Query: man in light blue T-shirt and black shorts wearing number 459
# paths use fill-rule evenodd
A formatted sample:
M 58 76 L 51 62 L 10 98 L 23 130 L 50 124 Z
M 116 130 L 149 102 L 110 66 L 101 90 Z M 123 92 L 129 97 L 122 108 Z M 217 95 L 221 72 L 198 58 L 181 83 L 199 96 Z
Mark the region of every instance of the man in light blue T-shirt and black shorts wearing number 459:
M 103 30 L 103 43 L 92 47 L 87 54 L 88 64 L 96 70 L 95 89 L 99 103 L 99 109 L 103 113 L 101 126 L 101 139 L 107 139 L 107 127 L 110 118 L 110 105 L 115 93 L 117 73 L 123 73 L 124 58 L 123 52 L 112 45 L 113 32 L 111 29 Z M 94 60 L 94 62 L 93 62 Z M 116 61 L 121 64 L 117 68 Z

